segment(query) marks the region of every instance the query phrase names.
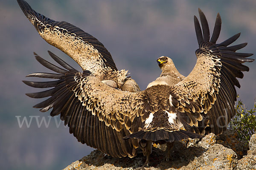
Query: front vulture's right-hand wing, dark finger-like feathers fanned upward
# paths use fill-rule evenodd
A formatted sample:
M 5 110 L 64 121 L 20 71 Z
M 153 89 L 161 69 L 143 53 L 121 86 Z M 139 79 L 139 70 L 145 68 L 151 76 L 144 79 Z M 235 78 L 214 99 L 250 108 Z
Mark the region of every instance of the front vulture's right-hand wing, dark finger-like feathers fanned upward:
M 219 14 L 210 39 L 206 17 L 200 9 L 198 11 L 203 34 L 197 17 L 194 17 L 199 45 L 195 52 L 197 62 L 192 72 L 172 87 L 171 100 L 186 130 L 220 134 L 235 114 L 235 86 L 240 88 L 237 78 L 243 78 L 242 71 L 249 71 L 242 63 L 252 62 L 254 59 L 246 58 L 253 54 L 236 52 L 247 43 L 229 46 L 238 39 L 240 33 L 216 44 L 221 30 Z M 198 111 L 203 116 L 201 122 L 194 117 Z M 206 131 L 201 128 L 205 125 Z

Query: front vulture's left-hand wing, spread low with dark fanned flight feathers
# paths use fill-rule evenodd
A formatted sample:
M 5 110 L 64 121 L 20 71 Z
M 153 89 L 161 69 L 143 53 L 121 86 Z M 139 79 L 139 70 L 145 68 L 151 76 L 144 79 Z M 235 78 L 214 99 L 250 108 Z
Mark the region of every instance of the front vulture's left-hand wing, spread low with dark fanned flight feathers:
M 53 65 L 35 54 L 38 62 L 55 73 L 34 73 L 27 77 L 58 80 L 50 82 L 23 81 L 26 85 L 35 88 L 53 87 L 46 91 L 26 94 L 32 98 L 50 96 L 45 101 L 35 105 L 34 108 L 41 108 L 41 112 L 53 108 L 50 115 L 61 114 L 61 120 L 64 120 L 65 125 L 70 127 L 70 133 L 73 133 L 83 144 L 86 143 L 90 147 L 97 148 L 113 157 L 135 156 L 138 142 L 132 139 L 122 139 L 130 134 L 131 121 L 128 122 L 129 120 L 125 119 L 125 113 L 128 114 L 128 112 L 123 112 L 131 104 L 131 101 L 118 98 L 115 101 L 113 99 L 108 101 L 109 95 L 120 96 L 122 93 L 128 94 L 128 92 L 105 85 L 98 78 L 90 76 L 90 71 L 80 73 L 55 54 L 48 52 L 63 68 Z M 115 107 L 114 103 L 116 102 L 120 102 L 119 104 L 123 107 Z M 112 109 L 117 109 L 121 114 L 113 114 Z M 139 124 L 133 125 L 133 128 L 138 128 L 138 126 Z

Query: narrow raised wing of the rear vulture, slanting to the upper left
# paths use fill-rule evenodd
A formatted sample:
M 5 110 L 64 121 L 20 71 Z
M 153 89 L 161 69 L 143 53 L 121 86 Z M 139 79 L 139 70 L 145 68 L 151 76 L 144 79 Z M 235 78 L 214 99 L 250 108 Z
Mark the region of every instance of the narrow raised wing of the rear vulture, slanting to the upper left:
M 117 71 L 111 54 L 99 40 L 70 23 L 39 14 L 24 0 L 17 2 L 40 36 L 73 58 L 83 70 L 90 70 L 96 76 L 108 69 Z

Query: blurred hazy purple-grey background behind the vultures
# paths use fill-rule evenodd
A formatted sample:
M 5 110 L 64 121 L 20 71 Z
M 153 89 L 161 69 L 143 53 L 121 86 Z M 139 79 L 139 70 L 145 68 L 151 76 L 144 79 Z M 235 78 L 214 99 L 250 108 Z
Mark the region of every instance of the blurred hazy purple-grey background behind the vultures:
M 119 69 L 128 69 L 141 89 L 160 75 L 157 57 L 173 59 L 181 74 L 187 75 L 195 65 L 195 37 L 193 16 L 198 7 L 204 11 L 213 30 L 220 12 L 222 31 L 218 42 L 241 32 L 236 43 L 248 42 L 240 52 L 256 54 L 256 1 L 247 0 L 41 0 L 28 3 L 53 20 L 64 20 L 95 36 L 111 52 Z M 50 59 L 52 51 L 71 65 L 72 59 L 47 44 L 29 23 L 16 0 L 0 0 L 0 164 L 9 170 L 61 169 L 81 159 L 93 150 L 77 142 L 63 124 L 50 120 L 38 128 L 35 117 L 29 128 L 19 128 L 17 118 L 42 116 L 49 113 L 32 108 L 40 100 L 25 93 L 36 91 L 21 80 L 32 72 L 45 72 L 33 57 L 33 51 Z M 255 59 L 255 56 L 252 58 Z M 50 61 L 52 61 L 50 59 Z M 256 62 L 248 63 L 250 72 L 244 73 L 237 89 L 248 108 L 256 98 Z M 81 70 L 81 69 L 79 69 Z M 59 119 L 56 119 L 59 120 Z

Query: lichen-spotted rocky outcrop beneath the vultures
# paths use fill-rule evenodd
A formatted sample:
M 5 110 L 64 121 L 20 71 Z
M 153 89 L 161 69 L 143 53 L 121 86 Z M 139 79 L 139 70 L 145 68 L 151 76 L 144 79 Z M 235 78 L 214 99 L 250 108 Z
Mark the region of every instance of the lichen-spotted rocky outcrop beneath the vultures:
M 158 148 L 157 148 L 158 147 Z M 161 149 L 164 147 L 161 146 Z M 154 145 L 151 167 L 146 170 L 256 170 L 256 134 L 249 144 L 239 142 L 237 133 L 227 130 L 220 136 L 209 134 L 201 140 L 175 142 L 172 155 L 166 161 L 166 151 Z M 142 152 L 134 158 L 112 158 L 94 150 L 64 170 L 134 170 L 145 162 Z

